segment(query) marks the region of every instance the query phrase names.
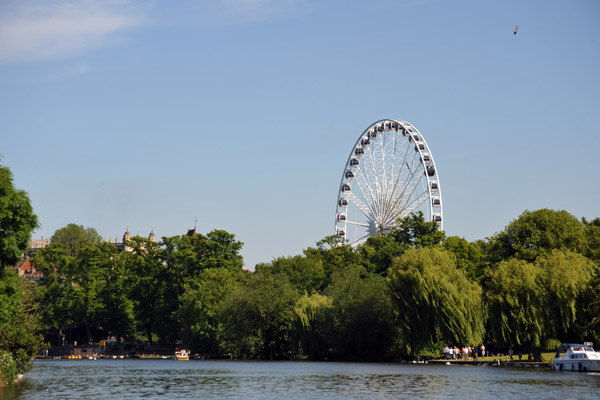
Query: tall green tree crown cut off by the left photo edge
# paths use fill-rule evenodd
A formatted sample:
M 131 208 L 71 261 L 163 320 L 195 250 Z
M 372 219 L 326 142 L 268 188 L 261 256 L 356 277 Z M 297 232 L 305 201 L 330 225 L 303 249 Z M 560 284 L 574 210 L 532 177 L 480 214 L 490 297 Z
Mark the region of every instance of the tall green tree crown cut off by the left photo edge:
M 0 165 L 0 268 L 21 259 L 37 226 L 29 196 L 14 187 L 10 169 Z

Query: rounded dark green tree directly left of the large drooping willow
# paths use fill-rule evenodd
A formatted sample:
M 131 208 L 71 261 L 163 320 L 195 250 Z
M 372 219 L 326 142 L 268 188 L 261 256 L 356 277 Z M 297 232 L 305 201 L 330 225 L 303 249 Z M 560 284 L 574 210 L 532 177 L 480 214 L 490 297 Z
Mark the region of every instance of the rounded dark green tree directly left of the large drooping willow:
M 381 360 L 396 338 L 394 306 L 385 278 L 355 267 L 335 274 L 329 343 L 336 357 Z

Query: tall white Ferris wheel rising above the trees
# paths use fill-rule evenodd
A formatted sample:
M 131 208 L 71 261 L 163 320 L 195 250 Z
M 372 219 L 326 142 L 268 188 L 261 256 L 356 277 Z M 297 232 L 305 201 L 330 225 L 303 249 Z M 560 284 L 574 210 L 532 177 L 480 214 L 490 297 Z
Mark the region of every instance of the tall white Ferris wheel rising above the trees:
M 433 154 L 410 123 L 377 121 L 359 136 L 344 166 L 335 234 L 358 246 L 418 211 L 443 229 L 442 190 Z

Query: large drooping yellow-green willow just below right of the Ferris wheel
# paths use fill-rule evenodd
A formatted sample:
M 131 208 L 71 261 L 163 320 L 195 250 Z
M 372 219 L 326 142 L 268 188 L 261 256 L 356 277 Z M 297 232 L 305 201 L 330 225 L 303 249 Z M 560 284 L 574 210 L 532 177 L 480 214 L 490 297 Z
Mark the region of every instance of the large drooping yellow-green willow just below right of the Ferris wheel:
M 388 284 L 409 354 L 482 342 L 481 287 L 456 267 L 446 250 L 409 249 L 394 260 Z

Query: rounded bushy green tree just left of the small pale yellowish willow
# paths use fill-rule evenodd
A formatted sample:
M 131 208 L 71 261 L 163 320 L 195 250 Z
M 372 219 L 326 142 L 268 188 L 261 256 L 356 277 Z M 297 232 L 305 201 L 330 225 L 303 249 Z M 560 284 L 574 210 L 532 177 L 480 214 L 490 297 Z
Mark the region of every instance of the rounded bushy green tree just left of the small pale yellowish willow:
M 291 358 L 297 351 L 292 338 L 298 297 L 285 275 L 250 276 L 221 303 L 223 352 L 242 358 Z

